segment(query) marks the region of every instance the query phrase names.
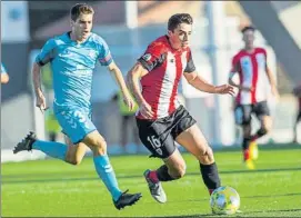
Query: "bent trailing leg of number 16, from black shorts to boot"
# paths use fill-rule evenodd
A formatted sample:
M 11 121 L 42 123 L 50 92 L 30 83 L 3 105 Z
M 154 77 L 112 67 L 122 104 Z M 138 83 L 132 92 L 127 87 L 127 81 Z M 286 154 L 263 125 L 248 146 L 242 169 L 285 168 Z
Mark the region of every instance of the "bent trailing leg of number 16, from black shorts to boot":
M 165 202 L 167 196 L 161 181 L 171 181 L 181 178 L 185 172 L 185 162 L 175 148 L 174 139 L 170 135 L 172 119 L 148 121 L 137 119 L 139 137 L 146 148 L 164 161 L 157 170 L 146 170 L 144 177 L 152 197 L 158 202 Z

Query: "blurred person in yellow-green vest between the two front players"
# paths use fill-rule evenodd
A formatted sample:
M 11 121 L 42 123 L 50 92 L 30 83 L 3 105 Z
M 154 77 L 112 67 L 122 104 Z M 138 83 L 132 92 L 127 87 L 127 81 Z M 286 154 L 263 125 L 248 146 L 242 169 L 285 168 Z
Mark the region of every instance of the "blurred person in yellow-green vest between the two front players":
M 127 147 L 133 147 L 132 143 L 130 143 L 129 136 L 132 136 L 133 143 L 136 147 L 136 150 L 138 151 L 140 140 L 138 136 L 138 129 L 136 127 L 136 118 L 134 113 L 138 110 L 138 105 L 134 102 L 134 107 L 132 110 L 129 110 L 129 107 L 123 101 L 122 92 L 118 91 L 113 98 L 113 101 L 117 101 L 119 112 L 121 115 L 121 125 L 120 125 L 120 143 L 123 149 L 123 152 L 127 152 Z

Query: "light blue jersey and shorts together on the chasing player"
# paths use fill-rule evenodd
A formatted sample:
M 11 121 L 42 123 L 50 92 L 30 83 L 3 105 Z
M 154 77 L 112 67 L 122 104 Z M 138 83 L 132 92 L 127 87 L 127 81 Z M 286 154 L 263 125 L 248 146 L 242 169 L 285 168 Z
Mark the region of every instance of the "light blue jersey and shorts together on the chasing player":
M 70 39 L 70 32 L 47 41 L 36 62 L 51 63 L 56 117 L 73 143 L 96 130 L 91 121 L 92 72 L 96 63 L 109 66 L 113 59 L 106 41 L 96 33 L 82 43 Z

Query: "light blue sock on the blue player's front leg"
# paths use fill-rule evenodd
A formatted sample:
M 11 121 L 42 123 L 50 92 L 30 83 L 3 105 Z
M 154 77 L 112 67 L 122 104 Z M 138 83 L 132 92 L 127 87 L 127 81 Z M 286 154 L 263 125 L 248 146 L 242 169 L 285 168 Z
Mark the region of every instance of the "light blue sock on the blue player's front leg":
M 93 157 L 94 166 L 99 177 L 111 192 L 113 200 L 118 200 L 122 191 L 118 188 L 114 170 L 108 155 Z

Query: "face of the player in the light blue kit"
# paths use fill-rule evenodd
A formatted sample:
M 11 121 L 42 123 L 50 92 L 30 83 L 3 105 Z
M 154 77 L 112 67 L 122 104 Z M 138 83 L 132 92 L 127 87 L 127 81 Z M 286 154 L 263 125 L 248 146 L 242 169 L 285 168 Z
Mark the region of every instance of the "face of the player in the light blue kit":
M 86 40 L 91 32 L 93 14 L 80 14 L 76 21 L 71 21 L 72 31 L 79 41 Z

